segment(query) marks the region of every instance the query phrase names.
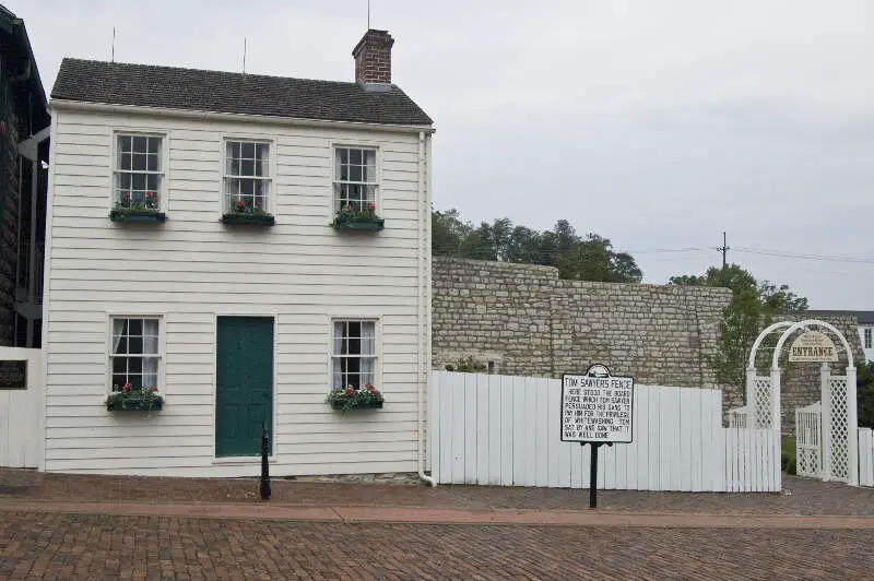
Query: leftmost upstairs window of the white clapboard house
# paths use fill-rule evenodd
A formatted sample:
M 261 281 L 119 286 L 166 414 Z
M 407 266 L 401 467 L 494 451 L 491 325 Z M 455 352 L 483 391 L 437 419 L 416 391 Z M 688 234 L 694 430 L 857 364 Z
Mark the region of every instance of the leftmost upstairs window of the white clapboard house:
M 163 139 L 134 134 L 119 134 L 117 139 L 115 206 L 157 212 L 164 178 Z

